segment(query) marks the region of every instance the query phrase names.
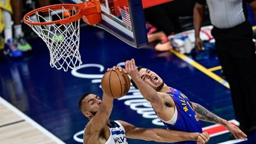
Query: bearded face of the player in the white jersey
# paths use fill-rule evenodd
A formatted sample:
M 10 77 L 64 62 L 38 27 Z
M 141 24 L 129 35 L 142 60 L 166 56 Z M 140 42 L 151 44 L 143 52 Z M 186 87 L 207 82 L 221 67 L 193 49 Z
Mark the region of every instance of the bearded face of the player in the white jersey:
M 95 94 L 89 94 L 83 100 L 83 104 L 85 104 L 86 111 L 92 114 L 93 116 L 96 114 L 96 112 L 100 108 L 101 103 L 102 101 L 100 100 L 100 97 Z

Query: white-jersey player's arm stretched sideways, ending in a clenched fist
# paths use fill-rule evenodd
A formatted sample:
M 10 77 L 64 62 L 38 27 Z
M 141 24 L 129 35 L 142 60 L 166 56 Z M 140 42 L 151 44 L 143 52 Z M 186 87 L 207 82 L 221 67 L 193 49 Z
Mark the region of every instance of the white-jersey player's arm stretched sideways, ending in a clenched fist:
M 167 129 L 144 129 L 135 127 L 124 121 L 119 121 L 126 130 L 127 138 L 136 138 L 140 140 L 148 140 L 155 142 L 182 142 L 197 141 L 199 143 L 207 143 L 210 139 L 208 133 L 188 133 Z

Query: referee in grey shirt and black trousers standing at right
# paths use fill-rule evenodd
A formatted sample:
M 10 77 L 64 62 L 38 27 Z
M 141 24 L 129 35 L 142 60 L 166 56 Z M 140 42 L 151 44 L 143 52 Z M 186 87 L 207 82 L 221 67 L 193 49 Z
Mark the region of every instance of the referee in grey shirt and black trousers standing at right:
M 196 0 L 194 7 L 195 48 L 200 40 L 205 5 L 210 11 L 216 51 L 226 76 L 236 119 L 247 134 L 256 131 L 256 56 L 252 26 L 247 20 L 249 3 L 256 14 L 256 0 Z

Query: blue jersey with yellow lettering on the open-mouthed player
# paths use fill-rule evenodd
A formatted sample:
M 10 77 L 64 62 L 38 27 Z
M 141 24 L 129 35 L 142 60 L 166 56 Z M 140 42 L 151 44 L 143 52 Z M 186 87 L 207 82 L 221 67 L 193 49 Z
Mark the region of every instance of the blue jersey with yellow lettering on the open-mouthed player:
M 163 122 L 167 129 L 169 130 L 180 130 L 184 132 L 200 132 L 202 133 L 202 126 L 199 122 L 197 115 L 195 114 L 192 104 L 190 103 L 187 96 L 185 96 L 181 91 L 174 88 L 169 88 L 171 91 L 168 93 L 177 108 L 177 120 L 174 125 Z M 194 144 L 197 142 L 187 141 L 178 142 L 179 144 Z

